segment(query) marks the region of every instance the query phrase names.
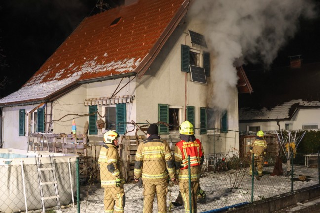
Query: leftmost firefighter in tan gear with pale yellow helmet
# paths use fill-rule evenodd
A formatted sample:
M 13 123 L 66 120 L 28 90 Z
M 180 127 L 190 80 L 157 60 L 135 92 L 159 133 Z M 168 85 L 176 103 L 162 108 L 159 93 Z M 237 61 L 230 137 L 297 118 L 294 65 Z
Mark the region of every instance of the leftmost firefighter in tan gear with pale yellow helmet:
M 101 186 L 104 188 L 104 212 L 123 213 L 125 180 L 121 168 L 123 166 L 118 154 L 118 137 L 116 131 L 108 131 L 103 136 L 105 145 L 101 148 L 98 163 L 100 166 Z

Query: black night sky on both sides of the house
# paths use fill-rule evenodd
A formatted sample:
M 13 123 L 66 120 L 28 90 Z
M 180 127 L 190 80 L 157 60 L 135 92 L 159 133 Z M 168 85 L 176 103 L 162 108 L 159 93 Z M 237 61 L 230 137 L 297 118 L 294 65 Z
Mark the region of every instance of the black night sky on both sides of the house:
M 317 7 L 320 8 L 320 0 Z M 0 2 L 0 97 L 18 90 L 49 58 L 80 22 L 100 11 L 99 0 L 4 0 Z M 115 7 L 123 0 L 104 0 Z M 106 8 L 106 7 L 104 7 Z M 320 14 L 320 13 L 319 13 Z M 303 63 L 320 62 L 320 18 L 301 20 L 296 36 L 280 50 L 271 66 L 288 66 L 288 56 L 302 55 Z M 262 65 L 247 65 L 245 70 L 265 70 Z M 268 73 L 268 71 L 264 71 Z M 251 82 L 251 79 L 249 79 Z M 254 91 L 254 83 L 252 83 Z M 257 87 L 256 87 L 257 88 Z M 241 105 L 241 102 L 240 102 Z

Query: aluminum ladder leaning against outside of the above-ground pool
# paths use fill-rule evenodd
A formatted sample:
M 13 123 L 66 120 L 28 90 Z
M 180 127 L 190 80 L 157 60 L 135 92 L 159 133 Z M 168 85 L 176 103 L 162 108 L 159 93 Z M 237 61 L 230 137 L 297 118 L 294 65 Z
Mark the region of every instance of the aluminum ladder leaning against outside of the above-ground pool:
M 56 177 L 56 170 L 55 170 L 55 163 L 53 156 L 49 155 L 50 158 L 50 166 L 43 168 L 42 163 L 40 160 L 40 156 L 35 156 L 36 164 L 37 164 L 37 174 L 38 174 L 38 182 L 39 182 L 39 189 L 40 189 L 40 196 L 41 196 L 41 205 L 42 205 L 42 212 L 45 213 L 45 200 L 50 200 L 50 199 L 56 199 L 57 202 L 57 213 L 61 213 L 61 205 L 60 205 L 60 196 L 58 192 L 58 181 Z M 52 181 L 46 181 L 42 182 L 42 176 L 45 177 L 47 180 L 52 180 Z M 43 186 L 54 186 L 54 192 L 55 195 L 50 195 L 48 197 L 44 197 L 44 192 L 43 192 Z M 47 190 L 50 191 L 50 190 Z

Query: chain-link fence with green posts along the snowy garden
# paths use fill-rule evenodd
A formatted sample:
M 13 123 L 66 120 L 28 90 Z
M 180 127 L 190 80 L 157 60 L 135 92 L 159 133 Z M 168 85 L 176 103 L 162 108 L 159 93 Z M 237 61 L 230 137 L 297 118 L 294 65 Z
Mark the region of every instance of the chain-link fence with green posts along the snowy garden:
M 200 187 L 205 192 L 205 196 L 203 198 L 203 193 L 197 195 L 197 212 L 228 209 L 239 204 L 280 196 L 317 185 L 320 181 L 318 154 L 296 154 L 289 159 L 289 162 L 283 158 L 278 158 L 277 161 L 276 159 L 264 161 L 263 176 L 259 180 L 256 179 L 254 172 L 252 176 L 249 175 L 251 163 L 251 156 L 239 158 L 237 155 L 228 156 L 222 153 L 220 158 L 216 155 L 206 155 L 200 175 Z M 128 164 L 124 162 L 123 165 Z M 43 164 L 42 166 L 50 167 L 51 165 Z M 45 201 L 46 212 L 104 212 L 104 188 L 101 187 L 97 162 L 92 162 L 88 167 L 86 178 L 77 175 L 79 161 L 57 163 L 55 167 L 61 211 L 57 208 L 56 199 L 51 199 Z M 123 166 L 121 171 L 128 173 L 132 169 Z M 49 195 L 42 196 L 40 193 L 37 165 L 10 165 L 10 162 L 7 162 L 6 165 L 1 165 L 0 176 L 0 212 L 43 212 L 41 197 Z M 43 176 L 42 181 L 54 180 Z M 55 194 L 52 190 L 54 189 L 44 188 L 43 191 L 47 194 Z M 129 177 L 123 184 L 123 190 L 124 212 L 142 213 L 146 189 Z M 184 205 L 179 206 L 179 201 L 176 200 L 178 194 L 179 186 L 169 181 L 166 194 L 167 212 L 185 213 Z M 155 196 L 153 212 L 158 212 L 157 201 Z

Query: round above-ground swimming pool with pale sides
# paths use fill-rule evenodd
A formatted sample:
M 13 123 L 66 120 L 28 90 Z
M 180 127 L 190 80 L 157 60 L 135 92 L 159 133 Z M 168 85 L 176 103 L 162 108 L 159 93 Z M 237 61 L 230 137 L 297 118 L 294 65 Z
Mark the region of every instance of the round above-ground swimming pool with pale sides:
M 0 149 L 0 212 L 12 213 L 41 209 L 36 158 L 43 168 L 52 167 L 54 157 L 60 204 L 68 205 L 76 191 L 76 163 L 78 155 L 47 151 L 26 152 L 19 149 Z M 49 174 L 42 181 L 52 181 Z M 43 186 L 44 197 L 55 194 L 53 185 Z M 55 199 L 45 201 L 45 207 L 57 206 Z

